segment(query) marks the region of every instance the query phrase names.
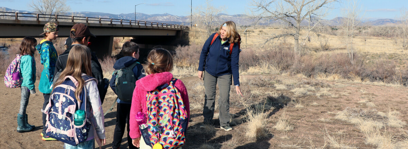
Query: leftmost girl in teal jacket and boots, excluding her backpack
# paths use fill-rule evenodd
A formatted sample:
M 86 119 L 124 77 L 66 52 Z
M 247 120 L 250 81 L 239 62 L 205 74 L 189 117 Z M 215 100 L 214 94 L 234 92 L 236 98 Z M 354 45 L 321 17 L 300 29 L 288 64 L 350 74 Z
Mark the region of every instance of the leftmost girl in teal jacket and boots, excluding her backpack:
M 21 102 L 20 110 L 17 114 L 17 132 L 29 132 L 34 129 L 34 125 L 28 124 L 28 116 L 25 113 L 28 105 L 28 98 L 30 94 L 35 94 L 35 46 L 37 45 L 37 40 L 33 37 L 24 37 L 20 45 L 20 73 L 23 77 L 23 82 L 21 83 Z

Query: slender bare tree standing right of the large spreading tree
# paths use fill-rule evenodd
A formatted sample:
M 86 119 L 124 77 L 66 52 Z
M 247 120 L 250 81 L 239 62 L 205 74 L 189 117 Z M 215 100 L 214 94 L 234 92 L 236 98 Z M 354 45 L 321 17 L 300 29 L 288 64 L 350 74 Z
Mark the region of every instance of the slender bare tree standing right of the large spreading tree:
M 359 7 L 359 3 L 357 0 L 350 0 L 347 3 L 346 11 L 344 11 L 345 14 L 343 14 L 345 16 L 343 21 L 343 28 L 345 33 L 344 40 L 351 64 L 354 64 L 354 32 L 356 31 L 356 27 L 361 23 L 361 11 L 361 7 Z

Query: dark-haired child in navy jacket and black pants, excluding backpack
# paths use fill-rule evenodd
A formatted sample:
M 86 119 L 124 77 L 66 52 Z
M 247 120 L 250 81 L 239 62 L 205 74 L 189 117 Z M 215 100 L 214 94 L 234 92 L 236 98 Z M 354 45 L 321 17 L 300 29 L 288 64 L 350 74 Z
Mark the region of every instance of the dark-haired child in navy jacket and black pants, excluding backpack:
M 122 93 L 128 93 L 127 95 L 130 99 L 130 102 L 124 101 L 123 99 L 120 100 L 117 98 L 117 112 L 116 112 L 116 126 L 115 126 L 115 131 L 113 133 L 113 142 L 112 142 L 112 149 L 119 149 L 120 144 L 122 143 L 122 137 L 123 133 L 125 132 L 125 126 L 127 124 L 127 144 L 129 146 L 129 149 L 136 149 L 132 145 L 132 139 L 130 139 L 129 136 L 129 114 L 130 114 L 130 105 L 131 105 L 131 97 L 132 93 L 134 90 L 134 83 L 136 80 L 142 78 L 145 76 L 143 72 L 143 66 L 138 63 L 139 59 L 139 46 L 134 43 L 134 42 L 125 42 L 122 46 L 122 51 L 121 53 L 123 54 L 123 57 L 118 59 L 115 64 L 113 65 L 113 68 L 115 70 L 123 69 L 123 68 L 129 68 L 132 70 L 134 74 L 134 81 L 132 81 L 132 87 L 128 87 L 128 89 L 124 89 L 126 91 L 120 91 Z M 132 68 L 130 68 L 132 67 Z M 116 88 L 116 82 L 115 78 L 117 77 L 117 74 L 112 74 L 112 78 L 110 79 L 110 87 L 112 88 L 113 92 L 115 94 L 118 94 L 115 89 L 120 89 L 121 87 Z M 130 84 L 130 81 L 127 81 Z M 127 86 L 126 86 L 127 87 Z M 128 91 L 129 90 L 129 91 Z M 123 97 L 123 96 L 121 96 Z

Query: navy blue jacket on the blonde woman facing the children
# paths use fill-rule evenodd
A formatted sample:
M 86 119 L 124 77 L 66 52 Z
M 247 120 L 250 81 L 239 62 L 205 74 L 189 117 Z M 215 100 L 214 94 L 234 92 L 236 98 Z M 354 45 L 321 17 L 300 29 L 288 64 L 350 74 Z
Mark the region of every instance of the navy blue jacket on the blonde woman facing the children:
M 238 43 L 234 43 L 232 54 L 229 56 L 229 39 L 221 44 L 221 37 L 217 37 L 211 44 L 215 33 L 205 41 L 200 55 L 199 71 L 206 71 L 213 76 L 232 74 L 234 85 L 239 85 L 239 48 Z

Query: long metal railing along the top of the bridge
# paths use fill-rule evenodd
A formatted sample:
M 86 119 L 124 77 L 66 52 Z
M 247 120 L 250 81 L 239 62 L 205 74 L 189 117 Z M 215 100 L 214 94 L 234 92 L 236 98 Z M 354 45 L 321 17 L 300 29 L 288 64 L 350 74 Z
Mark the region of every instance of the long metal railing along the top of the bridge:
M 22 19 L 24 18 L 24 19 Z M 115 18 L 102 17 L 86 17 L 74 15 L 54 15 L 54 14 L 38 14 L 38 13 L 23 13 L 23 12 L 6 12 L 0 11 L 0 19 L 15 19 L 15 20 L 48 20 L 48 21 L 62 21 L 62 22 L 82 22 L 82 23 L 101 23 L 101 24 L 128 24 L 139 26 L 156 26 L 167 28 L 188 29 L 188 26 L 178 24 L 168 24 L 159 22 L 148 22 L 139 20 L 126 20 Z

